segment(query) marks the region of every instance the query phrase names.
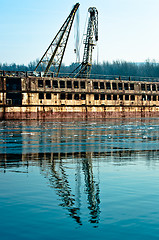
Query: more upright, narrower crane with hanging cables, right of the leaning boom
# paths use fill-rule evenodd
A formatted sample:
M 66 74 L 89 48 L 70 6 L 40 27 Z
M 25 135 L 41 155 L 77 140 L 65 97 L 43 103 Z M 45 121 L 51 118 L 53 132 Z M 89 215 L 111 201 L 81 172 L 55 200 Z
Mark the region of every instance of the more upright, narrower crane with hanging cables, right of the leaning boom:
M 98 11 L 95 7 L 88 9 L 90 13 L 87 34 L 84 41 L 84 54 L 82 63 L 73 71 L 76 72 L 75 76 L 79 78 L 89 78 L 92 67 L 92 51 L 95 42 L 98 41 Z M 94 41 L 95 38 L 95 41 Z M 78 72 L 77 72 L 78 71 Z

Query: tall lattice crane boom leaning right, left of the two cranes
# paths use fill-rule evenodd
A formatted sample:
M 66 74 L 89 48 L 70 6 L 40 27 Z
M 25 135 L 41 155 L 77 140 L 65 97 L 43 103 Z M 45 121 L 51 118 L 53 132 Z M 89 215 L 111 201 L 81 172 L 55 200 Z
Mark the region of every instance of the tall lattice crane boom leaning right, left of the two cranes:
M 35 72 L 38 70 L 42 71 L 44 72 L 43 76 L 45 77 L 48 74 L 50 68 L 53 67 L 54 75 L 58 76 L 73 20 L 79 5 L 79 3 L 76 3 L 74 5 L 71 13 L 37 64 Z

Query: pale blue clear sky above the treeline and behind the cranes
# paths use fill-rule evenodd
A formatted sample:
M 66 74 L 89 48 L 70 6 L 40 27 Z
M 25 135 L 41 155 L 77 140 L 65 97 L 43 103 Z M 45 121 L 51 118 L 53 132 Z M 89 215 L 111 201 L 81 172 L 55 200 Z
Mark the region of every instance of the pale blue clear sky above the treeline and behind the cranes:
M 98 10 L 99 40 L 93 62 L 159 62 L 159 0 L 0 0 L 0 63 L 40 59 L 77 2 L 81 43 L 88 8 Z M 74 29 L 65 65 L 76 61 Z M 83 49 L 82 44 L 81 61 Z

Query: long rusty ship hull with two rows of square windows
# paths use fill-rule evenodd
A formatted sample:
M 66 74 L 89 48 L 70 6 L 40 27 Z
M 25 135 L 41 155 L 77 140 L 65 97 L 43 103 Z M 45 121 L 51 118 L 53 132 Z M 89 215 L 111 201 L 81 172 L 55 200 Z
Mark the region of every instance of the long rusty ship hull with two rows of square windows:
M 130 117 L 159 117 L 157 81 L 0 77 L 1 120 Z

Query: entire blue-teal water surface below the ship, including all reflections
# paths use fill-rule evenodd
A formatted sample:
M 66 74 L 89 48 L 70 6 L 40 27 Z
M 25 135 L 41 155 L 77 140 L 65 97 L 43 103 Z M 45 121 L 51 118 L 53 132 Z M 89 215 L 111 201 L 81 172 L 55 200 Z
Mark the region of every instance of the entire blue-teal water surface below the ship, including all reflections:
M 0 239 L 158 239 L 159 120 L 0 122 Z

